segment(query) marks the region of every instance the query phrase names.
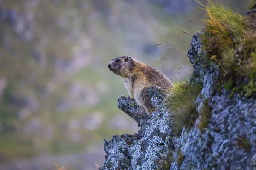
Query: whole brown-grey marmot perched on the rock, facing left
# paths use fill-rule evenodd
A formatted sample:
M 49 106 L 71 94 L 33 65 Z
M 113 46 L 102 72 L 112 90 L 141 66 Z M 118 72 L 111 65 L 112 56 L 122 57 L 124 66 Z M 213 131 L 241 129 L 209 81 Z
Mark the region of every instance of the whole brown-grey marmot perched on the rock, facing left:
M 125 79 L 125 87 L 131 99 L 135 99 L 138 105 L 143 106 L 148 115 L 154 111 L 154 108 L 151 105 L 147 88 L 149 86 L 158 86 L 164 89 L 173 87 L 171 80 L 161 71 L 129 56 L 113 59 L 108 63 L 108 68 Z

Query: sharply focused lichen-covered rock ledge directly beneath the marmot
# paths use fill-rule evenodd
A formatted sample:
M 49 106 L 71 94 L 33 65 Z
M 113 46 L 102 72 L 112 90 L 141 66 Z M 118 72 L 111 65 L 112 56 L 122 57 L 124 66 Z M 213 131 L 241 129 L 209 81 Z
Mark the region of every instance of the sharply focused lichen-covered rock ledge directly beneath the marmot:
M 144 119 L 141 129 L 134 135 L 113 136 L 104 141 L 107 153 L 103 167 L 99 170 L 153 170 L 157 162 L 173 149 L 170 129 L 170 113 L 166 112 L 163 95 L 159 88 L 148 88 L 155 111 Z M 139 106 L 134 100 L 121 97 L 118 102 L 125 113 L 136 113 Z M 131 108 L 124 108 L 125 104 Z M 138 122 L 138 121 L 137 121 Z

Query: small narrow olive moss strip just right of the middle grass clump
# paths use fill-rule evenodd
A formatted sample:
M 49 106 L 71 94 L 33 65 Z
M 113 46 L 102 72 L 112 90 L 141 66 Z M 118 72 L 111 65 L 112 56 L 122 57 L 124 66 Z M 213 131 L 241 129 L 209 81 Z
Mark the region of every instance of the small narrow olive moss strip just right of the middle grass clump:
M 201 131 L 201 133 L 204 132 L 204 128 L 207 127 L 209 120 L 212 117 L 212 108 L 208 104 L 208 100 L 204 102 L 204 106 L 201 107 L 201 110 L 199 112 L 200 120 L 198 122 L 198 129 Z

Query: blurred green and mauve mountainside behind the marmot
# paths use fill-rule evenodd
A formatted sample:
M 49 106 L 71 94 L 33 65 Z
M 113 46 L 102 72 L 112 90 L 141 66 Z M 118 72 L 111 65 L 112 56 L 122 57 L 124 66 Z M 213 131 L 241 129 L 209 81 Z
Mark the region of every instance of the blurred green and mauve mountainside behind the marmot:
M 220 2 L 244 14 L 252 0 Z M 52 170 L 54 163 L 96 170 L 105 159 L 103 139 L 139 129 L 116 106 L 128 92 L 108 62 L 129 55 L 175 81 L 188 77 L 186 44 L 203 25 L 197 6 L 0 0 L 0 170 Z

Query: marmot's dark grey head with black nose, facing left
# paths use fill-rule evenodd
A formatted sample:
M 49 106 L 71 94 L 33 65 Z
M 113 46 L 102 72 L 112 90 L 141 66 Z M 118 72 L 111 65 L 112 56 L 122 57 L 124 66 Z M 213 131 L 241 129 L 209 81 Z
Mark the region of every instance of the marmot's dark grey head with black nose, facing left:
M 118 57 L 108 63 L 108 68 L 114 74 L 126 77 L 131 74 L 131 71 L 134 68 L 134 61 L 135 59 L 130 56 Z

